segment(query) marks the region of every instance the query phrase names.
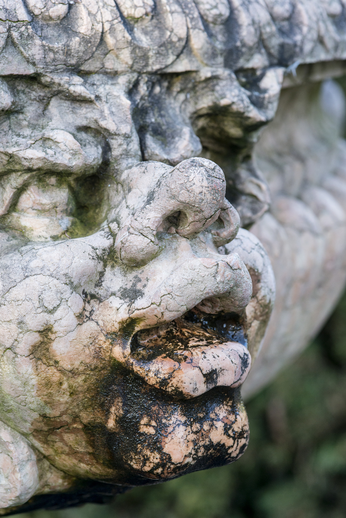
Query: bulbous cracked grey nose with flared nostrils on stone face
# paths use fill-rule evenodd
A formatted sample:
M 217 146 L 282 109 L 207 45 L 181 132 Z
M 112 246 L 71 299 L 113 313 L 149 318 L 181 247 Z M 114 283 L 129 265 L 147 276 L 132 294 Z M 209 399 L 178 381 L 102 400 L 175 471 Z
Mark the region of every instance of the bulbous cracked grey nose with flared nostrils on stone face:
M 189 237 L 218 218 L 224 228 L 213 230 L 217 244 L 238 232 L 239 216 L 225 199 L 222 169 L 203 158 L 184 160 L 165 169 L 144 202 L 120 227 L 115 246 L 121 261 L 137 266 L 150 261 L 161 249 L 158 232 Z

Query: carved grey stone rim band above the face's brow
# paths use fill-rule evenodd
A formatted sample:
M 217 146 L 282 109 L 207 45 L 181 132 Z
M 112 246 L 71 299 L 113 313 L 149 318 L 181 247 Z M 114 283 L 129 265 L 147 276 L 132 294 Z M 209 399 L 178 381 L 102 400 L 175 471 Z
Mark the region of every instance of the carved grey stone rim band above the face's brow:
M 344 16 L 342 0 L 6 0 L 1 73 L 181 73 L 336 59 L 345 52 Z

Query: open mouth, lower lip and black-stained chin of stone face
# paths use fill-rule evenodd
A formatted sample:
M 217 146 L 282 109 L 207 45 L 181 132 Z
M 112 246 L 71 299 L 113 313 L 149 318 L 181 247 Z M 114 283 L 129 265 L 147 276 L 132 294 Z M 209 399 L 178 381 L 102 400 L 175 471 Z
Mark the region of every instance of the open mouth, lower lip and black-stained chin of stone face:
M 250 369 L 244 318 L 197 307 L 133 335 L 113 383 L 108 444 L 128 484 L 224 465 L 244 452 L 248 423 L 238 387 Z M 143 380 L 146 383 L 143 383 Z M 234 387 L 234 388 L 233 388 Z

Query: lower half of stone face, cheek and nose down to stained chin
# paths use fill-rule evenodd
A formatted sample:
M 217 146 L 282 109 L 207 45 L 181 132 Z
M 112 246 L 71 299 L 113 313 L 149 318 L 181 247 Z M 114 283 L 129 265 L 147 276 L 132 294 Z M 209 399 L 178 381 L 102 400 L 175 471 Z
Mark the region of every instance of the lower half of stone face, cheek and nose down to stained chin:
M 43 236 L 17 251 L 4 247 L 1 419 L 61 470 L 60 490 L 66 477 L 70 489 L 79 478 L 123 485 L 164 480 L 231 462 L 246 447 L 236 387 L 250 368 L 246 344 L 251 353 L 258 345 L 257 336 L 249 333 L 246 341 L 244 333 L 256 319 L 266 324 L 271 312 L 271 265 L 245 230 L 237 251 L 223 246 L 237 235 L 239 216 L 224 197 L 216 164 L 191 159 L 177 166 L 177 177 L 167 171 L 173 168 L 158 162 L 124 171 L 114 186 L 110 223 L 89 237 L 67 239 L 66 233 L 65 240 Z M 24 189 L 17 207 L 29 207 L 33 219 L 45 211 L 53 218 L 47 193 L 58 195 L 56 203 L 65 198 L 59 177 L 52 178 Z M 121 233 L 129 221 L 137 234 Z M 142 239 L 145 229 L 153 242 L 158 236 L 159 250 L 143 255 L 134 241 L 131 257 L 139 265 L 129 266 L 117 236 L 118 243 L 127 235 Z M 257 269 L 267 306 L 253 298 L 257 316 L 244 309 L 253 291 L 241 260 L 244 254 L 252 266 L 248 243 L 264 259 Z M 149 355 L 139 354 L 138 332 L 155 327 L 162 333 L 173 320 L 185 342 L 175 333 L 171 347 L 159 340 Z M 42 493 L 41 486 L 31 490 Z M 29 488 L 23 483 L 21 491 Z

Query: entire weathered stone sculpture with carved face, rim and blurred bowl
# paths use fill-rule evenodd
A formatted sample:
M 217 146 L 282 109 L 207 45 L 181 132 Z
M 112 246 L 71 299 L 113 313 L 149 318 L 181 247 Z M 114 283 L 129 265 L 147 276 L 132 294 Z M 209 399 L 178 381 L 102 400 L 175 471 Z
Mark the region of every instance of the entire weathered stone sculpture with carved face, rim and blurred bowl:
M 0 515 L 244 452 L 345 283 L 345 22 L 0 0 Z

